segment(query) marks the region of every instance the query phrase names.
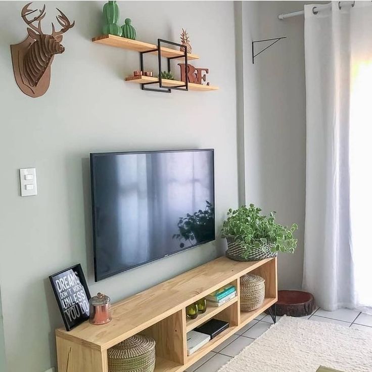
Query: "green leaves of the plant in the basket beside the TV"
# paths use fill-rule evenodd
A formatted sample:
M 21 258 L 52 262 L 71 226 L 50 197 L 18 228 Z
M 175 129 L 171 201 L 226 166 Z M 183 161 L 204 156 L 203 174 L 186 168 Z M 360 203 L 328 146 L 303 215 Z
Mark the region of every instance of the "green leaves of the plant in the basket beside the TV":
M 294 253 L 297 239 L 293 233 L 298 228 L 297 224 L 283 226 L 275 221 L 276 212 L 265 216 L 261 211 L 254 204 L 249 207 L 244 205 L 237 210 L 229 209 L 227 219 L 223 222 L 222 236 L 233 236 L 235 241 L 241 242 L 246 249 L 244 256 L 253 248 L 261 247 L 266 252 L 265 245 L 269 244 L 272 245 L 272 252 Z

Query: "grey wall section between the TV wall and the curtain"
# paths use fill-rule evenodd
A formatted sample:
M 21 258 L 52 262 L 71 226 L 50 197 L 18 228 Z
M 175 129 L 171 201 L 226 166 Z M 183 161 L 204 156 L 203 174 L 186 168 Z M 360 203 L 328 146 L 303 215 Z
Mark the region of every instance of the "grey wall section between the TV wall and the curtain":
M 303 6 L 304 2 L 243 2 L 242 12 L 244 125 L 238 123 L 238 136 L 244 135 L 244 143 L 238 149 L 244 153 L 239 165 L 245 173 L 245 195 L 240 199 L 266 213 L 277 211 L 283 224 L 299 225 L 296 253 L 278 258 L 282 289 L 300 289 L 302 284 L 306 121 L 304 18 L 281 21 L 277 15 Z M 253 65 L 252 40 L 280 36 L 287 39 L 257 56 Z M 256 53 L 267 45 L 256 44 Z

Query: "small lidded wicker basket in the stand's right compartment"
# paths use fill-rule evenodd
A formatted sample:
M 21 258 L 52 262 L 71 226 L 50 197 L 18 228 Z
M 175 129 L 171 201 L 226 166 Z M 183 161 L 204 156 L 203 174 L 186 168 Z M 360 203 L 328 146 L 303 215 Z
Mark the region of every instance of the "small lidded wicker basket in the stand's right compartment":
M 240 310 L 258 309 L 265 299 L 265 280 L 253 274 L 245 274 L 240 278 Z

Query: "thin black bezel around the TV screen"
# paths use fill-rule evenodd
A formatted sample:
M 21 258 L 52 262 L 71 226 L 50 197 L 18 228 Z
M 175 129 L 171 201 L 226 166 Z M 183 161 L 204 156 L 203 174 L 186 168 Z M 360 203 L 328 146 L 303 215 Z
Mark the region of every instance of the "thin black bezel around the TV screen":
M 186 248 L 180 248 L 179 250 L 177 250 L 176 252 L 172 252 L 172 253 L 169 253 L 169 254 L 166 254 L 164 256 L 161 256 L 161 257 L 157 257 L 157 258 L 154 258 L 150 261 L 146 261 L 146 262 L 143 262 L 143 263 L 140 263 L 140 264 L 137 264 L 137 265 L 133 265 L 133 266 L 130 266 L 128 268 L 124 268 L 122 270 L 118 270 L 118 271 L 115 271 L 114 273 L 110 273 L 108 275 L 104 275 L 104 276 L 101 276 L 101 277 L 97 277 L 97 257 L 96 257 L 96 230 L 97 230 L 97 226 L 96 226 L 96 218 L 95 218 L 95 211 L 96 211 L 96 208 L 95 208 L 95 174 L 94 174 L 94 161 L 95 161 L 95 158 L 99 157 L 99 156 L 111 156 L 111 155 L 130 155 L 130 154 L 154 154 L 154 153 L 182 153 L 182 152 L 199 152 L 199 151 L 210 151 L 212 152 L 212 183 L 213 183 L 213 218 L 214 218 L 214 236 L 213 236 L 213 239 L 210 239 L 210 240 L 206 240 L 206 241 L 203 241 L 201 243 L 197 243 L 197 244 L 194 244 L 192 246 L 189 246 L 189 247 L 186 247 Z M 90 189 L 91 189 L 91 214 L 92 214 L 92 233 L 93 233 L 93 257 L 94 257 L 94 269 L 95 269 L 95 282 L 100 282 L 104 279 L 107 279 L 111 276 L 115 276 L 115 275 L 118 275 L 120 273 L 123 273 L 123 272 L 127 272 L 127 271 L 130 271 L 130 270 L 133 270 L 137 267 L 141 267 L 141 266 L 145 266 L 145 265 L 148 265 L 152 262 L 155 262 L 155 261 L 158 261 L 158 260 L 161 260 L 165 257 L 169 257 L 169 256 L 173 256 L 177 253 L 180 253 L 180 252 L 185 252 L 189 249 L 192 249 L 192 248 L 195 248 L 195 247 L 198 247 L 202 244 L 206 244 L 206 243 L 209 243 L 209 242 L 213 242 L 214 240 L 216 240 L 216 211 L 215 211 L 215 199 L 216 199 L 216 195 L 215 195 L 215 180 L 214 180 L 214 169 L 215 169 L 215 166 L 214 166 L 214 149 L 187 149 L 187 150 L 154 150 L 154 151 L 123 151 L 123 152 L 104 152 L 104 153 L 90 153 Z

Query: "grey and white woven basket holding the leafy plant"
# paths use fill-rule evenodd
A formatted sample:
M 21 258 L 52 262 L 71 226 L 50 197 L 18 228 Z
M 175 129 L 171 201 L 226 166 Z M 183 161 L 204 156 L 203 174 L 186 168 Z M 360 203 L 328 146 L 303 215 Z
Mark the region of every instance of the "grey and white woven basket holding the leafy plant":
M 271 248 L 275 245 L 270 243 L 258 248 L 250 248 L 249 255 L 247 258 L 243 257 L 243 253 L 246 252 L 245 245 L 242 242 L 236 242 L 234 236 L 230 235 L 225 237 L 227 241 L 226 257 L 231 258 L 235 261 L 259 261 L 264 258 L 276 257 L 276 252 L 271 252 Z M 266 248 L 266 253 L 262 250 L 262 247 Z

